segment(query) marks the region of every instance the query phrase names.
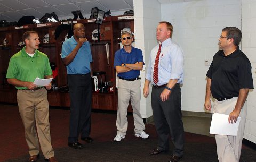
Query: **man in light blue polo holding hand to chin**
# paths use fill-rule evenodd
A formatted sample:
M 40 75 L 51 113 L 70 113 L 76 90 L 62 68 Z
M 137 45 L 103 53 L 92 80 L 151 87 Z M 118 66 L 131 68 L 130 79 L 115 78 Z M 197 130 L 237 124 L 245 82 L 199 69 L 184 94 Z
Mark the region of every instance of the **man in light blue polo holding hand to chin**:
M 62 45 L 62 61 L 67 67 L 70 95 L 70 125 L 68 146 L 82 149 L 81 140 L 90 143 L 91 102 L 92 102 L 92 54 L 91 47 L 85 38 L 85 27 L 77 23 L 73 28 L 74 35 Z

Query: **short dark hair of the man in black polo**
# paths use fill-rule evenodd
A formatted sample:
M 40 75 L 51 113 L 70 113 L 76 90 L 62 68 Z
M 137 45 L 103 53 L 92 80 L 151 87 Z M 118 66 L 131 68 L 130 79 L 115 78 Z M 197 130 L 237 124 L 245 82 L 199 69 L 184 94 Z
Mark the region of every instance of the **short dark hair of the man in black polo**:
M 226 27 L 222 31 L 227 32 L 227 37 L 234 40 L 234 45 L 238 46 L 242 39 L 242 32 L 236 27 Z

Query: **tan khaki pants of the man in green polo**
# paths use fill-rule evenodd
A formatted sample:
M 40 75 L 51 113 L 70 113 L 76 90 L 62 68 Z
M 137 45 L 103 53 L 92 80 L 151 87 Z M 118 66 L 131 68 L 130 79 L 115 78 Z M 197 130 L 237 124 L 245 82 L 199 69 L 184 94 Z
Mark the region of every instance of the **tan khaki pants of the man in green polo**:
M 45 159 L 54 156 L 50 136 L 47 91 L 18 90 L 17 101 L 30 156 L 39 154 L 39 141 Z M 39 141 L 38 141 L 38 138 Z

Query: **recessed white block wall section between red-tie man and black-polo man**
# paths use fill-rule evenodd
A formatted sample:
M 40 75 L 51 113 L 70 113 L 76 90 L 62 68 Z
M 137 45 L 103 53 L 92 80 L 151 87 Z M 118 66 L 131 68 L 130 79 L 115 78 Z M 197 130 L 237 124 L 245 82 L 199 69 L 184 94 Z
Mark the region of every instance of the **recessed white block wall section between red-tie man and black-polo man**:
M 162 4 L 162 21 L 173 25 L 172 39 L 185 53 L 185 80 L 181 88 L 182 110 L 205 112 L 205 61 L 211 64 L 219 50 L 222 29 L 234 26 L 241 29 L 240 0 L 202 0 Z

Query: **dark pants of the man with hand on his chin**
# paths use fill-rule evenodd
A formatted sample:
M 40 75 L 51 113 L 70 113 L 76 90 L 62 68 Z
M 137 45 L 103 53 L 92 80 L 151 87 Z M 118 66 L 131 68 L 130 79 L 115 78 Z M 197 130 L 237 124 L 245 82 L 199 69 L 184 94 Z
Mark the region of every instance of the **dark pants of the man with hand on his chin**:
M 77 142 L 91 132 L 92 82 L 91 74 L 69 74 L 70 125 L 68 142 Z

